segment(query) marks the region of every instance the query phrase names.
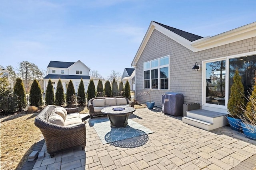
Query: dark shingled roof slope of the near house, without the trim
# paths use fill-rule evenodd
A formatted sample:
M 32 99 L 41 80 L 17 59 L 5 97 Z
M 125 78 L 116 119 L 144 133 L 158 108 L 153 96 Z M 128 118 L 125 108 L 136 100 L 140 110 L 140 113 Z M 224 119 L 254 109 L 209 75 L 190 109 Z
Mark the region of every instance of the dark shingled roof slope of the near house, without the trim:
M 164 24 L 156 22 L 156 21 L 153 21 L 153 22 L 157 23 L 158 25 L 161 25 L 162 27 L 165 27 L 166 29 L 169 29 L 170 31 L 180 35 L 181 37 L 183 37 L 183 38 L 185 38 L 185 39 L 187 39 L 188 41 L 191 41 L 191 42 L 192 41 L 196 41 L 196 40 L 198 40 L 200 38 L 203 38 L 203 37 L 201 37 L 199 35 L 188 33 L 186 31 L 182 31 L 180 29 L 176 29 L 176 28 L 173 28 L 173 27 L 169 27 L 167 25 L 164 25 Z

